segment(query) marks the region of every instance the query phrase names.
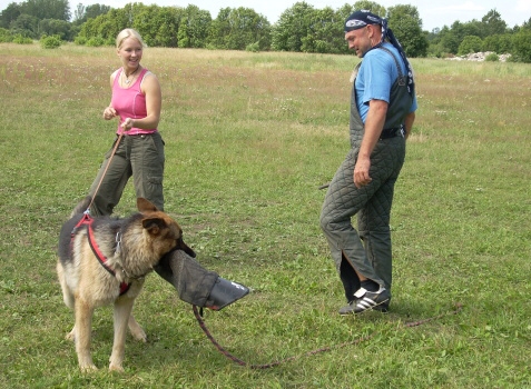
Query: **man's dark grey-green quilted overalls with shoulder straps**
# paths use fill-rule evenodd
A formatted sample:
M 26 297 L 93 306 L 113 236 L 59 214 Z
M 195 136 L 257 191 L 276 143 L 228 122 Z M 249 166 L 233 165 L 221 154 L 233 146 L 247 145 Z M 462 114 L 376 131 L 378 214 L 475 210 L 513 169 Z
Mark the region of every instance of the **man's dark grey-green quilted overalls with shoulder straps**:
M 321 212 L 321 228 L 328 241 L 347 301 L 353 300 L 354 292 L 361 287 L 354 268 L 391 292 L 391 206 L 394 184 L 405 158 L 403 123 L 410 112 L 412 97 L 407 92 L 406 78 L 395 56 L 386 48 L 380 49 L 393 57 L 399 68 L 399 78 L 391 88 L 384 130 L 371 154 L 372 181 L 365 187 L 356 188 L 353 179 L 364 134 L 364 123 L 356 106 L 354 80 L 351 100 L 351 150 L 330 183 Z M 360 232 L 351 222 L 354 215 L 357 215 Z

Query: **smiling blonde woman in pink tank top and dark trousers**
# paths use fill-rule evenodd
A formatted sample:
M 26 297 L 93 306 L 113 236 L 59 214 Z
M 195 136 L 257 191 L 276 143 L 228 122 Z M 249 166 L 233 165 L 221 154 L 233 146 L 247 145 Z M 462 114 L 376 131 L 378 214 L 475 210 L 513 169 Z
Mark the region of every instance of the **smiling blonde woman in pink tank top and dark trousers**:
M 118 33 L 116 52 L 121 68 L 110 76 L 112 97 L 104 110 L 105 120 L 119 118 L 118 137 L 90 188 L 92 216 L 112 213 L 131 176 L 137 198 L 146 198 L 164 210 L 164 141 L 157 130 L 161 92 L 157 77 L 140 64 L 142 50 L 144 42 L 137 31 L 125 29 Z M 111 158 L 118 140 L 120 143 Z

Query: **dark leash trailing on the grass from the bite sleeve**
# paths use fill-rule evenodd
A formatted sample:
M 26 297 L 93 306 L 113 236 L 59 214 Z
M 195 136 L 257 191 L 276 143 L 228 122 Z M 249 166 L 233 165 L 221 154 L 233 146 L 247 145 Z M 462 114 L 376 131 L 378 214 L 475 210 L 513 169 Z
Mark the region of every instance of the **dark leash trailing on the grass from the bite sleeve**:
M 205 325 L 205 321 L 203 320 L 201 318 L 201 315 L 199 313 L 199 311 L 197 310 L 197 306 L 193 306 L 193 309 L 194 309 L 194 315 L 197 319 L 197 322 L 199 323 L 199 327 L 201 328 L 203 332 L 205 332 L 205 335 L 207 336 L 208 339 L 210 339 L 210 341 L 213 342 L 213 345 L 219 350 L 220 353 L 223 353 L 225 357 L 227 357 L 228 359 L 230 359 L 232 361 L 236 362 L 237 365 L 239 366 L 245 366 L 245 367 L 248 367 L 250 369 L 257 369 L 257 370 L 260 370 L 260 369 L 269 369 L 269 368 L 273 368 L 275 366 L 278 366 L 278 365 L 282 365 L 282 363 L 285 363 L 285 362 L 289 362 L 289 361 L 294 361 L 296 359 L 299 359 L 301 357 L 309 357 L 309 356 L 315 356 L 317 353 L 321 353 L 321 352 L 326 352 L 326 351 L 331 351 L 331 350 L 334 350 L 334 349 L 340 349 L 340 348 L 344 348 L 346 346 L 356 346 L 356 345 L 360 345 L 364 341 L 367 341 L 372 338 L 374 338 L 376 336 L 376 333 L 378 333 L 378 331 L 374 331 L 365 337 L 360 337 L 355 340 L 351 340 L 351 341 L 347 341 L 347 342 L 344 342 L 344 343 L 341 343 L 341 345 L 335 345 L 335 346 L 328 346 L 328 347 L 323 347 L 321 349 L 317 349 L 317 350 L 312 350 L 312 351 L 308 351 L 308 352 L 305 352 L 303 355 L 299 355 L 299 356 L 293 356 L 293 357 L 288 357 L 288 358 L 285 358 L 285 359 L 282 359 L 282 360 L 278 360 L 278 361 L 274 361 L 274 362 L 271 362 L 271 363 L 265 363 L 265 365 L 249 365 L 247 362 L 245 362 L 244 360 L 233 356 L 230 352 L 228 352 L 227 350 L 225 350 L 225 348 L 223 348 L 217 341 L 216 339 L 214 339 L 214 337 L 212 336 L 210 331 L 208 330 L 208 328 L 206 327 Z M 455 303 L 455 308 L 451 311 L 448 311 L 448 312 L 444 312 L 444 313 L 441 313 L 441 315 L 437 315 L 437 316 L 434 316 L 434 317 L 431 317 L 431 318 L 427 318 L 427 319 L 423 319 L 423 320 L 419 320 L 419 321 L 412 321 L 412 322 L 406 322 L 405 325 L 402 326 L 402 328 L 412 328 L 412 327 L 419 327 L 419 326 L 422 326 L 422 325 L 425 325 L 426 322 L 430 322 L 430 321 L 435 321 L 435 320 L 439 320 L 443 317 L 446 317 L 446 316 L 452 316 L 452 315 L 458 315 L 459 312 L 461 312 L 461 310 L 463 309 L 463 306 L 461 303 Z M 203 309 L 201 309 L 201 312 L 203 312 Z

